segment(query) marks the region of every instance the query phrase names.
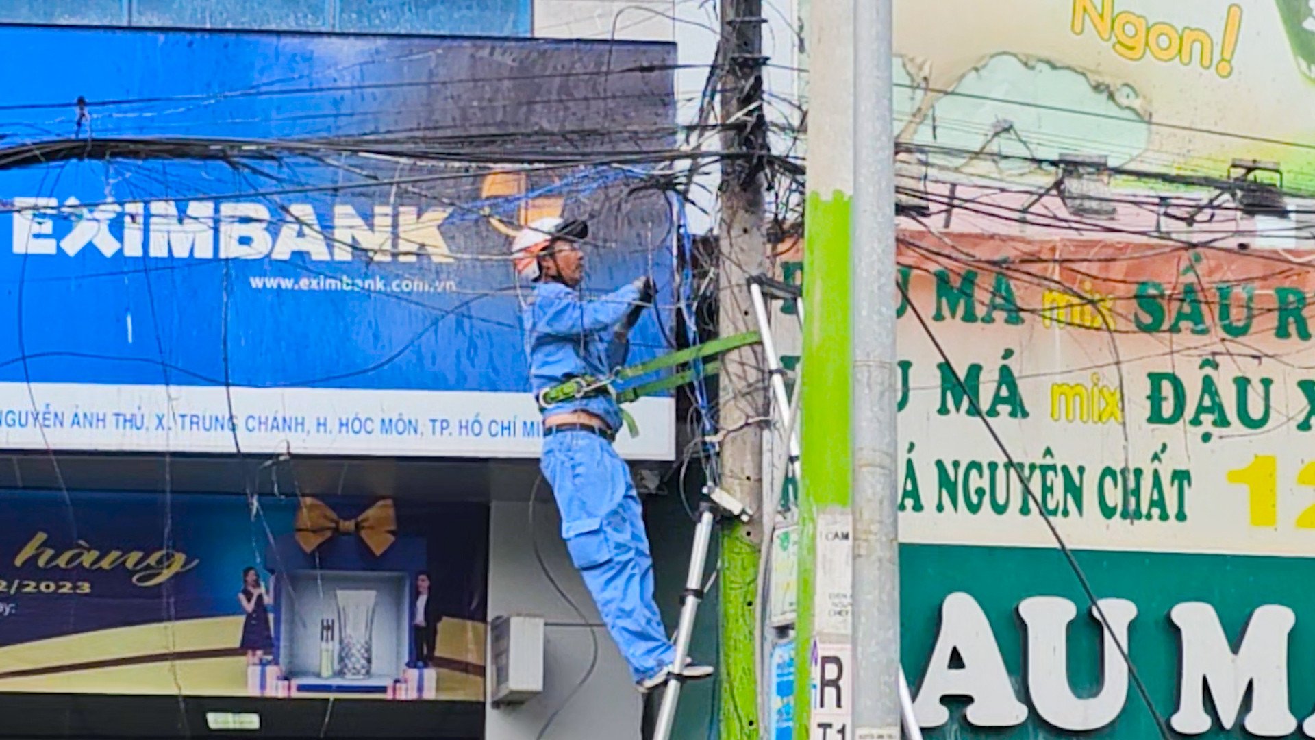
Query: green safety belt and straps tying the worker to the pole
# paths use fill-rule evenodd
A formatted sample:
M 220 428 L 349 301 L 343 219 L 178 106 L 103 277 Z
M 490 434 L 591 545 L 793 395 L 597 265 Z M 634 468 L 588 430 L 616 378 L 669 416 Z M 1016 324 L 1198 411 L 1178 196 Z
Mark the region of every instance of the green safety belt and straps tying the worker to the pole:
M 667 370 L 669 367 L 694 362 L 696 359 L 723 354 L 742 346 L 757 344 L 760 338 L 761 337 L 757 332 L 744 332 L 743 334 L 721 337 L 704 344 L 697 344 L 686 349 L 655 357 L 646 362 L 618 367 L 601 378 L 594 375 L 579 375 L 564 383 L 539 391 L 539 408 L 542 410 L 558 403 L 598 395 L 610 395 L 618 404 L 621 404 L 679 388 L 698 377 L 715 375 L 721 370 L 721 362 L 709 362 L 702 367 L 690 367 L 680 373 L 673 373 L 665 378 L 650 381 L 647 383 L 640 383 L 619 391 L 617 390 L 617 384 L 634 378 L 640 378 L 658 370 Z M 630 436 L 638 436 L 639 427 L 635 424 L 634 416 L 622 410 L 621 417 L 626 421 L 626 429 L 630 431 Z

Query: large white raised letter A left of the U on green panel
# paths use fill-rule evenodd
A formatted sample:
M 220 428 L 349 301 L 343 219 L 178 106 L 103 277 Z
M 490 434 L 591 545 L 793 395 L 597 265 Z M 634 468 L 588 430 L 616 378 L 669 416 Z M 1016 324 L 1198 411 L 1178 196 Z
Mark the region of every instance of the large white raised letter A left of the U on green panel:
M 955 652 L 964 668 L 949 666 Z M 977 727 L 1015 727 L 1027 719 L 1027 707 L 1014 695 L 990 621 L 977 600 L 963 593 L 949 594 L 940 606 L 936 647 L 913 706 L 918 724 L 940 727 L 949 722 L 942 703 L 945 697 L 972 699 L 965 716 Z

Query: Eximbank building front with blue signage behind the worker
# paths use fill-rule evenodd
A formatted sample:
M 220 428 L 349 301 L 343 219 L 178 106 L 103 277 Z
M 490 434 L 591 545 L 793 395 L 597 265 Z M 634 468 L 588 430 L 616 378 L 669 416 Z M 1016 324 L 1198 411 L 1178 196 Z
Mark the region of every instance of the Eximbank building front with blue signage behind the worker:
M 676 13 L 568 0 L 0 9 L 22 24 L 0 28 L 14 68 L 60 67 L 7 92 L 0 142 L 16 157 L 0 220 L 21 317 L 0 340 L 13 358 L 0 485 L 24 521 L 0 537 L 13 549 L 0 703 L 30 718 L 14 732 L 49 735 L 42 718 L 64 716 L 68 736 L 196 735 L 255 714 L 280 736 L 521 739 L 555 718 L 544 737 L 638 737 L 642 703 L 537 483 L 509 270 L 480 257 L 562 211 L 642 248 L 600 257 L 594 287 L 655 254 L 661 269 L 669 209 L 623 195 L 642 172 L 504 176 L 492 162 L 509 141 L 542 154 L 581 129 L 669 147 L 685 87 L 672 83 Z M 618 61 L 652 71 L 600 71 Z M 389 136 L 468 157 L 342 147 Z M 289 138 L 339 150 L 231 147 Z M 640 353 L 660 349 L 658 330 L 640 328 Z M 673 491 L 672 407 L 652 404 L 621 446 L 652 471 L 642 482 Z M 684 514 L 675 495 L 648 508 L 673 619 Z M 92 562 L 95 578 L 75 577 Z M 373 606 L 326 587 L 371 591 Z M 342 660 L 362 614 L 388 623 L 371 632 L 364 681 Z M 487 623 L 510 614 L 547 619 L 547 683 L 493 708 Z M 268 635 L 249 629 L 266 619 Z M 713 691 L 685 702 L 700 732 Z

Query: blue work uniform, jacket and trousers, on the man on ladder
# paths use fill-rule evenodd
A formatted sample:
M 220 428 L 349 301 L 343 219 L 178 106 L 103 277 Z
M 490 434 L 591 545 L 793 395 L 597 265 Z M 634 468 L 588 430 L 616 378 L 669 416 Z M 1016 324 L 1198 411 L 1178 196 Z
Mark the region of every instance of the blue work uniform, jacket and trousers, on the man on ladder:
M 523 317 L 535 396 L 572 377 L 606 375 L 623 363 L 629 342 L 615 332 L 638 299 L 635 286 L 597 300 L 583 300 L 562 283 L 535 286 Z M 606 394 L 554 404 L 543 416 L 568 411 L 598 416 L 613 435 L 622 424 L 621 408 Z M 571 561 L 630 673 L 636 682 L 658 675 L 676 649 L 654 602 L 652 557 L 630 467 L 609 440 L 583 431 L 544 437 L 540 467 L 562 512 Z

